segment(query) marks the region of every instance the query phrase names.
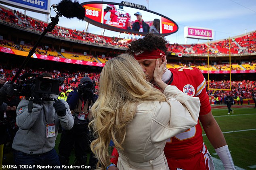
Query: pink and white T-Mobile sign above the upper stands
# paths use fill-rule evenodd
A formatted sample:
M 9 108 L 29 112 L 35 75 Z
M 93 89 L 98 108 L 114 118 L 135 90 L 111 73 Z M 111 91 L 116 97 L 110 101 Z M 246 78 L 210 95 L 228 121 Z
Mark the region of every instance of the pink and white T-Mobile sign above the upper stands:
M 184 27 L 184 37 L 194 39 L 214 39 L 213 29 Z

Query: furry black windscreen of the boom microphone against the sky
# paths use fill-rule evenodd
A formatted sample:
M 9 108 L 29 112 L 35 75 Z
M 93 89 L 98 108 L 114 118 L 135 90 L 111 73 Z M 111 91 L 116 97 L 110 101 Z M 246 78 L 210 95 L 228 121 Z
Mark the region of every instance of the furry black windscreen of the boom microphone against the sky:
M 59 4 L 52 5 L 62 16 L 66 18 L 78 18 L 84 20 L 85 9 L 77 0 L 72 2 L 71 0 L 62 0 Z

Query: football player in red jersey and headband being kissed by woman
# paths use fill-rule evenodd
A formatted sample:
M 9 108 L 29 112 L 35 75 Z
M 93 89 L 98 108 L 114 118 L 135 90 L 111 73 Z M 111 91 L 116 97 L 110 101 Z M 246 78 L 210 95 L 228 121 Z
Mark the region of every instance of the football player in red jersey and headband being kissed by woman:
M 167 43 L 164 37 L 149 33 L 144 38 L 133 41 L 127 50 L 128 53 L 134 55 L 147 75 L 148 81 L 153 84 L 156 59 L 152 58 L 159 53 L 159 59 L 162 63 L 166 63 Z M 194 67 L 171 68 L 166 70 L 162 80 L 167 84 L 177 86 L 189 96 L 199 97 L 201 102 L 198 124 L 166 142 L 164 154 L 170 170 L 214 170 L 212 158 L 204 145 L 199 121 L 225 170 L 235 170 L 225 137 L 212 115 L 209 97 L 206 93 L 206 80 L 201 71 Z M 114 150 L 112 155 L 116 154 Z M 114 161 L 111 159 L 111 162 L 115 163 Z M 109 170 L 112 168 L 115 167 L 109 167 Z

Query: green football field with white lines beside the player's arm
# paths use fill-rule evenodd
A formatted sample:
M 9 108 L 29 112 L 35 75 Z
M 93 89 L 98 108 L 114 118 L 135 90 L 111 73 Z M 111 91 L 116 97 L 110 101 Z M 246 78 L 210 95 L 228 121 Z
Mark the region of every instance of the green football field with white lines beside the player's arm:
M 212 106 L 212 114 L 222 130 L 237 170 L 256 170 L 256 109 L 254 105 L 233 105 L 227 115 L 225 105 Z M 216 170 L 224 170 L 214 148 L 203 132 L 204 142 L 214 157 Z

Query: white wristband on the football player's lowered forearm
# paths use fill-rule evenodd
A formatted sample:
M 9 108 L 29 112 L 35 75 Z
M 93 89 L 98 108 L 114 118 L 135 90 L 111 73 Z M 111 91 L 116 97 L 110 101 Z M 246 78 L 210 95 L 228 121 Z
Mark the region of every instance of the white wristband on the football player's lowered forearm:
M 229 152 L 228 145 L 219 147 L 219 148 L 215 149 L 215 151 L 218 154 L 218 156 L 220 157 L 220 160 L 222 161 L 225 170 L 236 170 L 232 156 Z

